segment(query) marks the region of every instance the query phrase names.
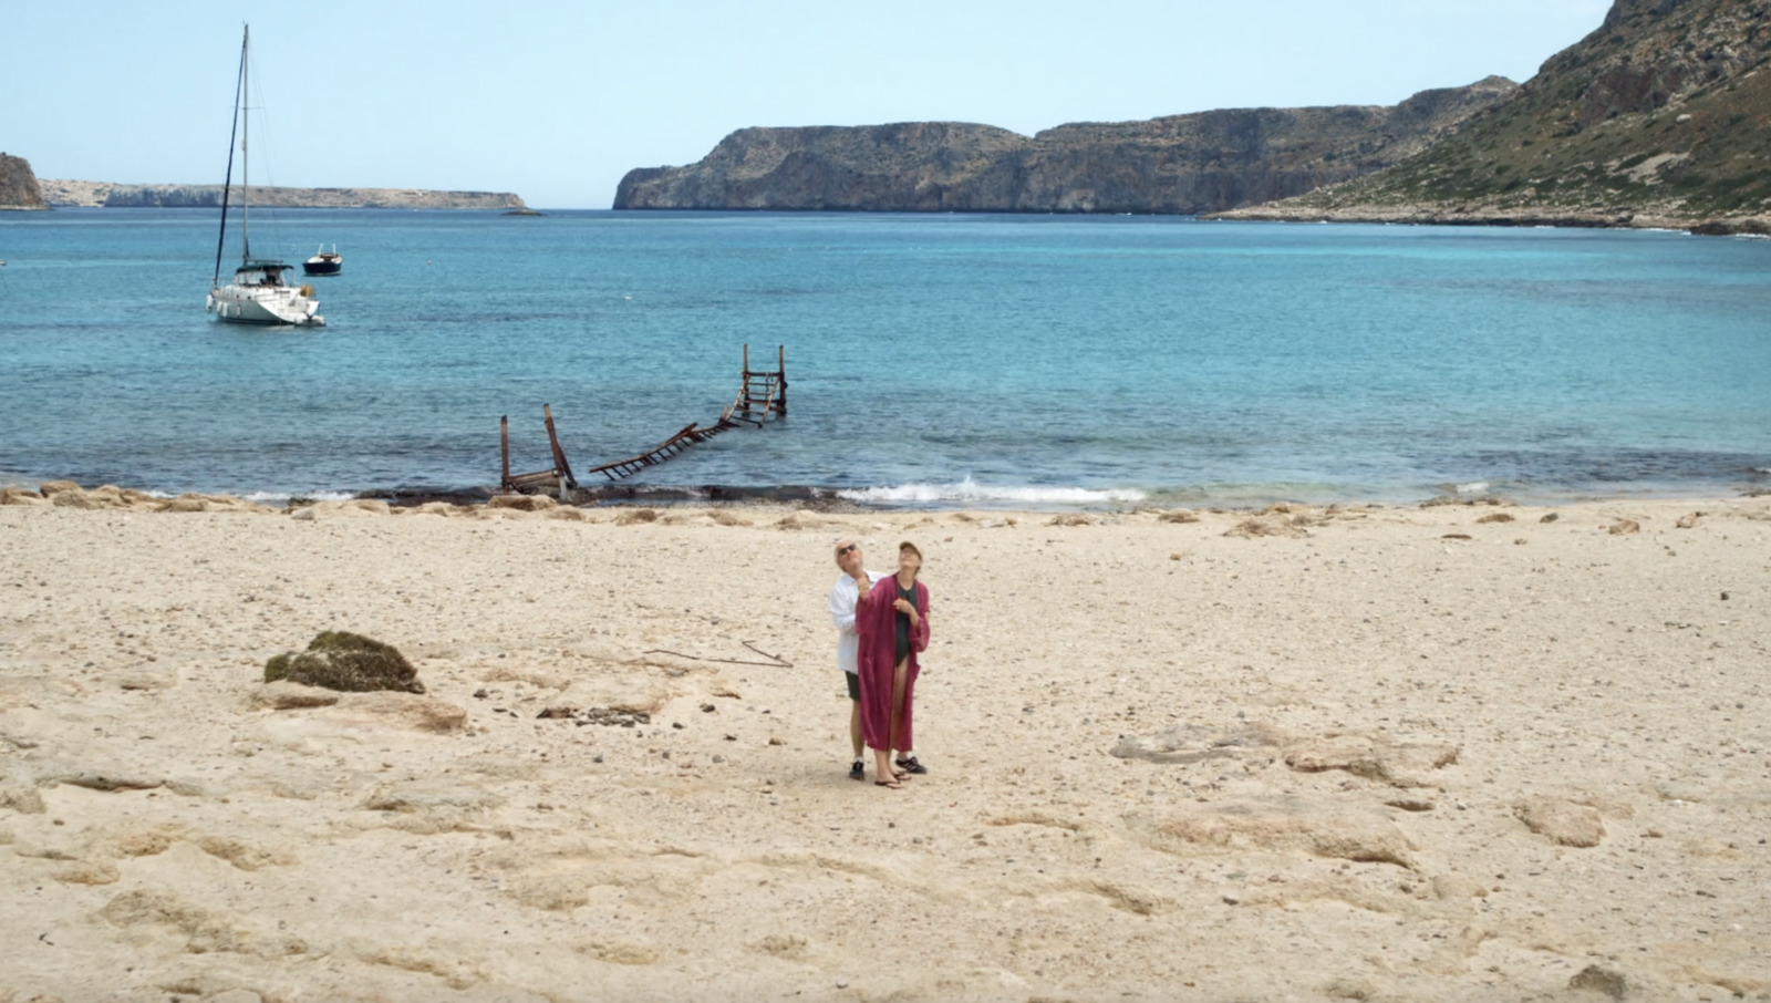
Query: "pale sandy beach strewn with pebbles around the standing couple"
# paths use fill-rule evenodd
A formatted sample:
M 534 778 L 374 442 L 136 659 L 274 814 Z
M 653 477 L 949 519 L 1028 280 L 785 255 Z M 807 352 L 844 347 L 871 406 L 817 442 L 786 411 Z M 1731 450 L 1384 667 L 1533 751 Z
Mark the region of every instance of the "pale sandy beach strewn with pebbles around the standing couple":
M 0 1001 L 1771 999 L 1771 498 L 9 498 Z M 845 533 L 928 558 L 905 790 Z M 324 629 L 427 693 L 262 684 Z

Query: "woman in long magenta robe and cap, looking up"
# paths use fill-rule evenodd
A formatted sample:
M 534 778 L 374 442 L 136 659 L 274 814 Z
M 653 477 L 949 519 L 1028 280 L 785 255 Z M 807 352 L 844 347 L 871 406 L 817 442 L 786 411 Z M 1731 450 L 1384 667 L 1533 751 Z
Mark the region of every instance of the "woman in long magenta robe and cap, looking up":
M 916 748 L 910 737 L 910 707 L 916 702 L 916 656 L 928 649 L 928 587 L 916 579 L 923 551 L 898 544 L 898 574 L 878 579 L 855 604 L 861 634 L 861 737 L 873 750 L 877 780 L 893 790 L 903 773 L 893 769 L 893 750 Z

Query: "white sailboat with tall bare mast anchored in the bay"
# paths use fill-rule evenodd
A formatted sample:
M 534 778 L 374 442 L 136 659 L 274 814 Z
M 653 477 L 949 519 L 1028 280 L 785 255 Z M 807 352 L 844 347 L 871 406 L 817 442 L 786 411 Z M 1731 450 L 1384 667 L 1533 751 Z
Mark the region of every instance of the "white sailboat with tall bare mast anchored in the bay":
M 319 315 L 321 301 L 313 298 L 312 285 L 299 289 L 283 282 L 283 273 L 290 264 L 275 259 L 251 257 L 251 206 L 246 184 L 246 145 L 251 135 L 250 113 L 246 108 L 246 66 L 251 51 L 251 27 L 239 43 L 239 80 L 234 85 L 234 126 L 239 129 L 239 268 L 234 280 L 221 285 L 221 252 L 227 246 L 227 209 L 228 195 L 234 188 L 234 135 L 228 135 L 227 181 L 221 186 L 221 236 L 216 237 L 216 273 L 209 284 L 209 299 L 204 310 L 221 321 L 236 324 L 294 324 L 299 328 L 321 328 L 326 317 Z

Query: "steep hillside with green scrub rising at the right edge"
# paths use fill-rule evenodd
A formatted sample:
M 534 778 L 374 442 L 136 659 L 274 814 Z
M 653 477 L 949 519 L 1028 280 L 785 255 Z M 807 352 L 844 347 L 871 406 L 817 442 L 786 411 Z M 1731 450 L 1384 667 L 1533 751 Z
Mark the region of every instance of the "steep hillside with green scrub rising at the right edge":
M 1424 154 L 1231 218 L 1771 229 L 1771 0 L 1615 0 Z

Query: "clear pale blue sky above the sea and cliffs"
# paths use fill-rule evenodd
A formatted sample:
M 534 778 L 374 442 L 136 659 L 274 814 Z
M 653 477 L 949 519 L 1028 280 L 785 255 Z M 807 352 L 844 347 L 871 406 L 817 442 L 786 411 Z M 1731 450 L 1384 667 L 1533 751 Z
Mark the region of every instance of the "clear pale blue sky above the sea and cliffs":
M 1527 80 L 1610 0 L 11 4 L 0 151 L 39 177 L 218 183 L 251 21 L 253 181 L 606 207 L 744 126 L 1034 133 L 1208 108 L 1392 105 Z M 269 168 L 269 177 L 262 168 Z

